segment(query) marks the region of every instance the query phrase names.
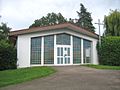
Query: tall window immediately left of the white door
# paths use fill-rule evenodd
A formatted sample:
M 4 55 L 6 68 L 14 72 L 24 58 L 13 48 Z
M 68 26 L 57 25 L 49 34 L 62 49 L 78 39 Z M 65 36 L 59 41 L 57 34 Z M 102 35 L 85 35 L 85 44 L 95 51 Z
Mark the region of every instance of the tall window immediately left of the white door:
M 44 37 L 44 64 L 54 64 L 54 36 Z

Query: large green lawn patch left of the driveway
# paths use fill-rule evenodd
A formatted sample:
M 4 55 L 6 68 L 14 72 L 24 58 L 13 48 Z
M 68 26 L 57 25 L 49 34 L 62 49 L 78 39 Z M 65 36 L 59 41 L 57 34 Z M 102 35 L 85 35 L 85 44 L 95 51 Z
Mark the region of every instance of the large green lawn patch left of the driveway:
M 51 67 L 30 67 L 0 71 L 0 87 L 41 78 L 54 73 Z

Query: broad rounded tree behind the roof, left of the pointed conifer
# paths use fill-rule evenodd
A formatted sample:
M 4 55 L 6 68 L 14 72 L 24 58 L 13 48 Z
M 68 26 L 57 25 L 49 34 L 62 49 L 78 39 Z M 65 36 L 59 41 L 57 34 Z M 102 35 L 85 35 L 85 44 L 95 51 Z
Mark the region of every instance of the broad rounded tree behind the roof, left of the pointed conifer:
M 61 13 L 48 13 L 47 16 L 43 16 L 40 19 L 34 21 L 34 23 L 30 27 L 38 27 L 38 26 L 48 26 L 48 25 L 55 25 L 67 22 Z

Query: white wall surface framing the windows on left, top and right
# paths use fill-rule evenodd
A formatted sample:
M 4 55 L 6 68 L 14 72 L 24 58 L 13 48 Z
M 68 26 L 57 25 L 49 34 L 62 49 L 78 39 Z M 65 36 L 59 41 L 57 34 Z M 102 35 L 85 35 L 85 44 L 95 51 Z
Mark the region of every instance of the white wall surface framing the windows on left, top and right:
M 92 62 L 93 64 L 98 64 L 98 57 L 97 57 L 97 50 L 96 50 L 96 44 L 97 39 L 79 34 L 77 32 L 71 31 L 71 30 L 52 30 L 48 32 L 37 32 L 37 33 L 31 33 L 31 34 L 24 34 L 19 35 L 17 39 L 17 58 L 18 58 L 18 68 L 19 67 L 30 67 L 30 47 L 31 47 L 31 37 L 37 37 L 37 36 L 44 36 L 44 35 L 50 35 L 50 34 L 58 34 L 58 33 L 68 33 L 75 36 L 78 36 L 83 39 L 87 39 L 92 41 Z

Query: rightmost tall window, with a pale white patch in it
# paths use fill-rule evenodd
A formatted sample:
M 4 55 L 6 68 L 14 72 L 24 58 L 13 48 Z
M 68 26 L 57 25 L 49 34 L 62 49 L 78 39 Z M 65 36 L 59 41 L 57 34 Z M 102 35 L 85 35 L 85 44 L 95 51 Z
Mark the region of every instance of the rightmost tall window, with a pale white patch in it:
M 84 63 L 91 63 L 91 41 L 83 40 Z

